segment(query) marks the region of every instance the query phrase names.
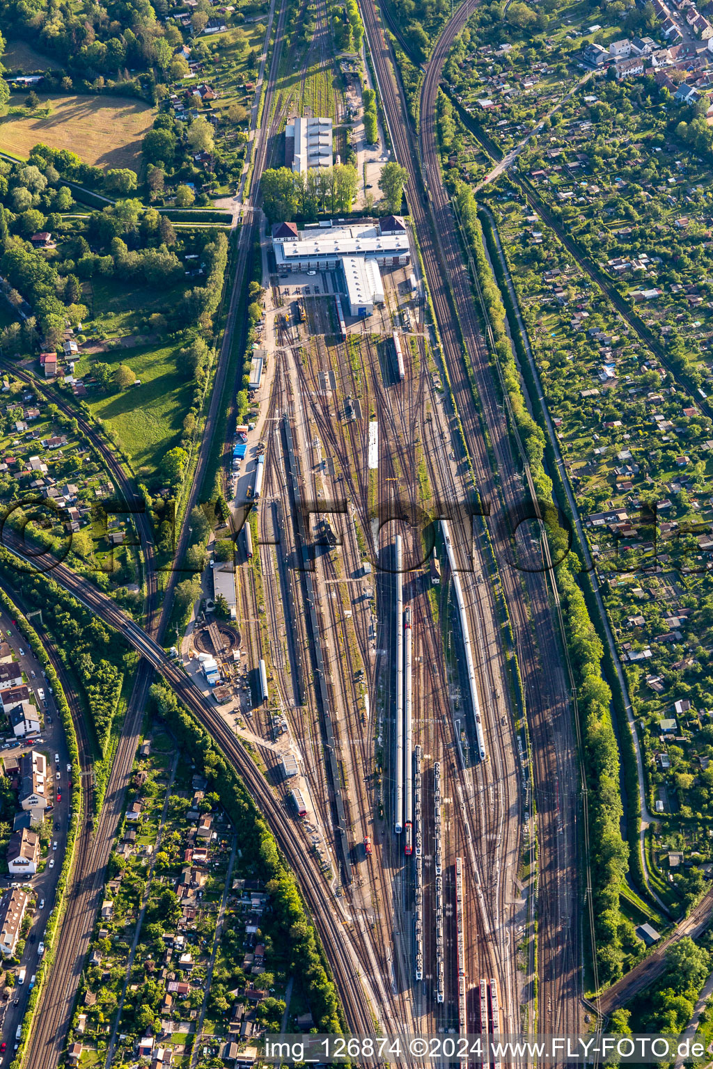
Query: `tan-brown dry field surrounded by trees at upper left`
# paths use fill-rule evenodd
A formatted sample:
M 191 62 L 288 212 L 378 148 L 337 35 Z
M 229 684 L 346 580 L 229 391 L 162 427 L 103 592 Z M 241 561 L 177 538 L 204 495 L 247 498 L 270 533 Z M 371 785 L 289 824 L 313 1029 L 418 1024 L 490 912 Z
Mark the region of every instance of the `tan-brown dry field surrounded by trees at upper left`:
M 0 151 L 27 157 L 42 142 L 75 152 L 87 164 L 141 170 L 141 139 L 154 120 L 148 104 L 120 96 L 37 95 L 35 115 L 13 108 L 13 100 L 22 98 L 11 97 L 11 114 L 0 119 Z

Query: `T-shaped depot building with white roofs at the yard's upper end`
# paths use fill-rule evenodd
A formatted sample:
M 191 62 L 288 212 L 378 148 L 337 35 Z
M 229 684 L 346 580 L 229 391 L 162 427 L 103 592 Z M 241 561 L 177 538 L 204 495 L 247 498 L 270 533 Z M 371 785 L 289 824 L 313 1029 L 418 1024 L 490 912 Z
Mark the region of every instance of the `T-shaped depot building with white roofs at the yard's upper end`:
M 330 220 L 303 230 L 295 222 L 276 223 L 273 249 L 279 275 L 339 272 L 350 314 L 359 317 L 371 315 L 374 305 L 384 304 L 379 268 L 410 263 L 408 231 L 403 219 L 394 215 L 377 222 Z

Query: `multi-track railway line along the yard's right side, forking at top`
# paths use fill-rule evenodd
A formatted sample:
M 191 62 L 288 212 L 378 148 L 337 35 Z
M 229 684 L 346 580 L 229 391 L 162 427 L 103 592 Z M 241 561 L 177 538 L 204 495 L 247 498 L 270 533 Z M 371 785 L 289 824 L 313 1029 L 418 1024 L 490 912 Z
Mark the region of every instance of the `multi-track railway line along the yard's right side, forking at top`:
M 361 12 L 394 153 L 399 162 L 409 171 L 406 191 L 430 281 L 455 412 L 462 421 L 464 459 L 472 466 L 481 497 L 491 501 L 493 510 L 489 528 L 500 563 L 502 590 L 528 699 L 543 862 L 540 881 L 541 1005 L 549 1007 L 549 1016 L 543 1014 L 541 1020 L 547 1027 L 576 1031 L 582 1012 L 578 925 L 572 919 L 578 909 L 577 838 L 572 823 L 560 819 L 562 811 L 576 811 L 579 804 L 569 681 L 557 659 L 552 656 L 552 651 L 559 648 L 559 633 L 549 606 L 547 583 L 541 575 L 518 573 L 512 567 L 506 567 L 513 562 L 514 557 L 521 568 L 542 569 L 542 546 L 538 541 L 538 546 L 533 547 L 522 527 L 514 536 L 510 533 L 512 517 L 527 511 L 522 463 L 513 454 L 509 429 L 500 408 L 491 354 L 482 336 L 455 236 L 454 219 L 443 188 L 435 143 L 435 98 L 440 69 L 474 7 L 475 0 L 466 0 L 456 11 L 436 43 L 427 67 L 421 93 L 418 150 L 416 142 L 408 137 L 406 109 L 392 75 L 390 52 L 373 3 L 365 0 Z M 467 363 L 463 358 L 463 345 Z M 497 468 L 497 479 L 493 476 L 494 467 Z M 483 559 L 486 561 L 486 554 L 481 557 L 480 567 L 483 574 L 487 574 Z M 533 630 L 537 630 L 538 642 L 533 638 Z M 547 651 L 544 657 L 541 648 Z M 512 755 L 507 749 L 502 750 L 502 758 L 505 766 L 514 768 Z M 554 777 L 560 791 L 559 814 L 552 790 Z M 564 806 L 569 808 L 565 810 Z M 507 959 L 510 980 L 502 989 L 514 993 L 517 976 L 512 959 L 511 949 Z M 534 1010 L 531 990 L 528 1002 L 531 1022 Z M 516 1031 L 520 1025 L 518 1007 L 506 1001 L 505 1014 L 506 1023 L 509 1022 Z

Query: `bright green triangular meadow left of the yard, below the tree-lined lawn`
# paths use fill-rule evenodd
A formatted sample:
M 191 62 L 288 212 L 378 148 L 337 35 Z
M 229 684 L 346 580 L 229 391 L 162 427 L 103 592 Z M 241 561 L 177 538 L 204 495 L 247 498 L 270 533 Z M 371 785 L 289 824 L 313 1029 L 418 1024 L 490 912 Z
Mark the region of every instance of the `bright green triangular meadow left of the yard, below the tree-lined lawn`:
M 139 345 L 102 353 L 110 367 L 126 363 L 140 386 L 120 393 L 91 393 L 90 406 L 114 431 L 131 458 L 137 474 L 151 479 L 161 459 L 181 438 L 182 423 L 191 400 L 191 384 L 175 369 L 174 345 Z M 82 358 L 77 374 L 87 374 Z

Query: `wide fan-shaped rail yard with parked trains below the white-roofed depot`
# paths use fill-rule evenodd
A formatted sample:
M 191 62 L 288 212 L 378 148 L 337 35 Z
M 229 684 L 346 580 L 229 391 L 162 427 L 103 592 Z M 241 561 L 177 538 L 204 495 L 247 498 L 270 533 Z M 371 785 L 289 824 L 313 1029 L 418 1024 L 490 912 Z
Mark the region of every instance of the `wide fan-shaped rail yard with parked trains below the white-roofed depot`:
M 410 272 L 385 270 L 384 306 L 347 321 L 343 339 L 328 273 L 311 284 L 270 279 L 278 314 L 252 513 L 259 549 L 252 559 L 241 551 L 237 575 L 237 625 L 248 661 L 266 662 L 269 697 L 248 730 L 266 740 L 275 781 L 276 750 L 298 759 L 298 775 L 279 787 L 285 812 L 295 819 L 297 788 L 304 849 L 334 888 L 379 1027 L 480 1031 L 486 978 L 500 992 L 501 1026 L 518 1031 L 533 1003 L 528 743 L 511 704 L 487 534 L 468 514 L 469 467 Z M 441 518 L 459 561 L 486 760 Z M 413 634 L 402 759 L 418 762 L 413 817 L 404 814 L 412 826 L 401 834 L 398 540 Z M 235 723 L 246 729 L 243 716 Z

